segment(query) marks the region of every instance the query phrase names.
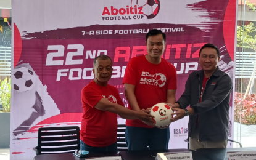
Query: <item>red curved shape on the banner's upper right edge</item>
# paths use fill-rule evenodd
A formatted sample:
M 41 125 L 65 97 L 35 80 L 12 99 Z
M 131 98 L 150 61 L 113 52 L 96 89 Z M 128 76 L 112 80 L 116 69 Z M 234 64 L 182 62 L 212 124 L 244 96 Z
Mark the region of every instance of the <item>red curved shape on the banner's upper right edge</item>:
M 226 44 L 226 49 L 232 60 L 234 60 L 234 39 L 236 31 L 236 0 L 230 0 L 226 7 L 224 22 L 223 22 L 223 36 Z

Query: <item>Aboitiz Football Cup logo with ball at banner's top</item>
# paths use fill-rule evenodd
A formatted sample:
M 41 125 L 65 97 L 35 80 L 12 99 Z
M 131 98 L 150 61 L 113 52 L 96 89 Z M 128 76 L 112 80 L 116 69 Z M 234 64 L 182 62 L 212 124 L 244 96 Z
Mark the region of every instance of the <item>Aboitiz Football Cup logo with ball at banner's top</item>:
M 104 7 L 102 20 L 139 20 L 144 17 L 152 19 L 160 10 L 160 0 L 131 0 L 124 7 Z

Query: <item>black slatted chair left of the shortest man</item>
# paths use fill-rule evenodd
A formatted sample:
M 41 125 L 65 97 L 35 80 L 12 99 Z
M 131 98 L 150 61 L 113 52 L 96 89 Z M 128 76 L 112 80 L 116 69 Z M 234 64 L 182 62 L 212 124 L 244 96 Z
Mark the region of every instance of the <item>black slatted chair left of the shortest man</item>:
M 38 129 L 38 146 L 33 148 L 36 155 L 74 153 L 80 150 L 78 126 L 45 127 Z

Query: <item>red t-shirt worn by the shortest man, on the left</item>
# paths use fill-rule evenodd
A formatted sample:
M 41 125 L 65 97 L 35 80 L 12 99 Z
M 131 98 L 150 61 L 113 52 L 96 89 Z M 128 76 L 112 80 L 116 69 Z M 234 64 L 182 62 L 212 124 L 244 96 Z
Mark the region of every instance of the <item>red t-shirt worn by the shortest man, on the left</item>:
M 117 114 L 94 108 L 102 98 L 124 106 L 119 92 L 114 86 L 109 84 L 105 87 L 99 86 L 91 81 L 83 87 L 80 139 L 89 146 L 105 147 L 117 141 Z

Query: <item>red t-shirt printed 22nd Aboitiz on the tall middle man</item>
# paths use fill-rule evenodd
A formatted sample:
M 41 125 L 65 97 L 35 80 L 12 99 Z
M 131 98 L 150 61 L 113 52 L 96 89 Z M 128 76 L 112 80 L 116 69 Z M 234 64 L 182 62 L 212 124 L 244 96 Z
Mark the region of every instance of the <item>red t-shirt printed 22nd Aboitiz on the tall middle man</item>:
M 131 58 L 125 70 L 123 84 L 133 84 L 139 108 L 146 109 L 166 102 L 167 90 L 177 89 L 175 66 L 161 58 L 157 65 L 147 61 L 145 55 Z M 128 108 L 131 109 L 130 105 Z M 139 119 L 126 119 L 126 126 L 152 128 Z

